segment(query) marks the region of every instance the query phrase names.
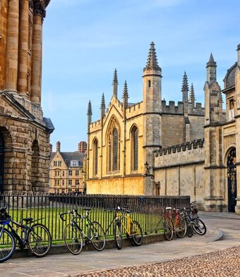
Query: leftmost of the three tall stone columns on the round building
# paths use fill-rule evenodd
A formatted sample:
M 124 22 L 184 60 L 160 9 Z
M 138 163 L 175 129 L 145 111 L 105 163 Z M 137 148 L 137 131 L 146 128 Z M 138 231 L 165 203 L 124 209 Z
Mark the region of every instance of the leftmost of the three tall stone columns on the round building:
M 6 90 L 17 90 L 18 82 L 18 20 L 19 0 L 8 1 L 6 41 Z

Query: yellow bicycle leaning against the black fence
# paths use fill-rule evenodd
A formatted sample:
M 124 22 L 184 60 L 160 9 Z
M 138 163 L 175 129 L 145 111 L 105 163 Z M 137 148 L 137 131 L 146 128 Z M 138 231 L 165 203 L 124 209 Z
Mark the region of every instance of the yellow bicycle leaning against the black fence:
M 112 209 L 107 211 L 112 211 Z M 124 212 L 126 212 L 126 214 L 124 214 Z M 118 206 L 114 209 L 114 218 L 107 228 L 107 230 L 109 230 L 110 226 L 114 224 L 114 242 L 118 250 L 121 250 L 123 247 L 122 230 L 126 232 L 126 237 L 130 239 L 132 245 L 140 246 L 143 243 L 143 230 L 138 221 L 133 221 L 131 219 L 131 216 L 129 216 L 131 212 L 132 211 L 129 209 Z M 126 225 L 124 219 L 126 219 Z

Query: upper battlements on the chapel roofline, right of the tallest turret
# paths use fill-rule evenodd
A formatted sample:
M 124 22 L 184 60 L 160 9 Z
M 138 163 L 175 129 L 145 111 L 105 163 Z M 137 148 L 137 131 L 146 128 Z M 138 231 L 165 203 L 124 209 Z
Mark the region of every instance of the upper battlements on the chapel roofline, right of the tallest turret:
M 182 115 L 184 113 L 184 102 L 178 101 L 177 106 L 175 106 L 175 101 L 169 101 L 169 105 L 166 105 L 166 101 L 162 100 L 162 113 Z M 202 104 L 196 103 L 196 106 L 193 107 L 193 104 L 188 102 L 188 114 L 204 116 L 204 108 L 202 107 Z

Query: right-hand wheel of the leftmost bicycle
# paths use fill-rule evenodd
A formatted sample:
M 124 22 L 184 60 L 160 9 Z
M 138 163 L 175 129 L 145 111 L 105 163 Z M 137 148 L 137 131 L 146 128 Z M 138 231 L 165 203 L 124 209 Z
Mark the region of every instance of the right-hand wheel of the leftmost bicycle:
M 49 230 L 41 223 L 36 223 L 30 227 L 27 241 L 32 254 L 39 258 L 47 255 L 52 245 Z

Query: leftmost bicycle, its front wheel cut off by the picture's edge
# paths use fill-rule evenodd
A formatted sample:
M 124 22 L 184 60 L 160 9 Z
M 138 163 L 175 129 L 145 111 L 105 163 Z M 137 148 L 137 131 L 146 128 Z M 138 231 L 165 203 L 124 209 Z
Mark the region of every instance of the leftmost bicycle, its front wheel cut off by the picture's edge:
M 41 219 L 33 221 L 31 217 L 23 218 L 18 223 L 11 220 L 6 207 L 0 209 L 0 224 L 3 226 L 0 227 L 0 262 L 11 258 L 16 250 L 16 242 L 21 250 L 28 247 L 35 257 L 44 257 L 49 252 L 52 245 L 49 230 L 42 223 L 35 223 Z M 32 225 L 32 223 L 35 224 Z M 16 225 L 17 230 L 11 224 Z M 17 233 L 19 228 L 21 235 Z

